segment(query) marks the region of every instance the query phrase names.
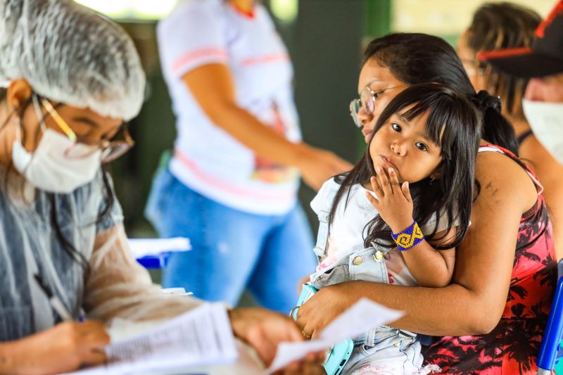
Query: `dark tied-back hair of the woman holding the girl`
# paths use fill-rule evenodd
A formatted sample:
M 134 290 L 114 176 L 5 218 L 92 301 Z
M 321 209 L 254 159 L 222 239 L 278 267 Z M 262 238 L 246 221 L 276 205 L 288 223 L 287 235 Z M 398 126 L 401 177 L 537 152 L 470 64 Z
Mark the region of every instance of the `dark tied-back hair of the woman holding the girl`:
M 485 91 L 476 94 L 460 58 L 445 40 L 419 33 L 388 34 L 369 43 L 363 63 L 372 58 L 407 84 L 436 82 L 467 95 L 482 114 L 481 137 L 518 155 L 516 134 L 500 114 L 498 99 Z

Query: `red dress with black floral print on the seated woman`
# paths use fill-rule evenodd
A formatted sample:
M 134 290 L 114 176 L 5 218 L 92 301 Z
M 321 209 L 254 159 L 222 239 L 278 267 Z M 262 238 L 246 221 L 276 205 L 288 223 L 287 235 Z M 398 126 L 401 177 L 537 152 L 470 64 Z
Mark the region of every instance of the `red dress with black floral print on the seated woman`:
M 494 147 L 517 160 L 510 151 L 486 146 L 488 150 L 479 151 L 493 151 Z M 523 165 L 519 160 L 517 163 Z M 520 220 L 512 279 L 500 322 L 486 335 L 441 338 L 423 349 L 426 362 L 438 364 L 443 374 L 536 374 L 556 283 L 552 228 L 539 191 L 538 201 Z

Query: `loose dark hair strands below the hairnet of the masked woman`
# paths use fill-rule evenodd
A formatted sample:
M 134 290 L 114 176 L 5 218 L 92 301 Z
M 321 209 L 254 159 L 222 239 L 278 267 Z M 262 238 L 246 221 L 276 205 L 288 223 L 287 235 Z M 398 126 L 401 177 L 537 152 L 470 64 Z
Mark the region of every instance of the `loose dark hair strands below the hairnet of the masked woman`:
M 0 89 L 0 103 L 4 101 L 6 101 L 6 89 Z M 23 114 L 25 113 L 25 110 L 27 109 L 28 106 L 30 106 L 31 103 L 32 103 L 32 98 L 29 98 L 25 103 L 23 103 L 23 106 L 21 106 L 20 111 L 18 113 L 20 118 L 23 118 Z M 60 104 L 56 105 L 55 107 L 58 106 L 60 106 Z M 6 119 L 6 122 L 4 122 L 4 124 L 0 126 L 0 132 L 2 131 L 2 129 L 4 129 L 4 127 L 6 127 L 6 125 L 8 124 L 8 120 L 9 117 L 8 119 Z M 22 133 L 22 136 L 25 136 L 25 134 Z M 9 165 L 8 168 L 6 169 L 6 174 L 4 176 L 4 186 L 8 185 L 8 178 L 9 178 L 8 176 L 11 168 L 13 168 L 12 164 Z M 103 201 L 105 205 L 102 212 L 97 217 L 96 223 L 101 222 L 101 220 L 103 220 L 104 217 L 106 217 L 106 215 L 109 215 L 111 209 L 113 208 L 113 204 L 115 203 L 114 202 L 115 198 L 113 196 L 113 189 L 111 187 L 108 175 L 109 175 L 109 166 L 103 164 L 102 165 L 102 179 L 104 186 Z M 90 272 L 89 260 L 87 260 L 84 257 L 84 255 L 75 248 L 72 242 L 66 239 L 65 236 L 63 235 L 63 231 L 61 230 L 61 224 L 58 223 L 58 212 L 56 209 L 55 193 L 47 193 L 47 197 L 49 198 L 49 203 L 51 205 L 51 214 L 49 215 L 49 217 L 51 220 L 51 225 L 53 226 L 53 229 L 55 231 L 56 238 L 61 243 L 61 245 L 63 246 L 63 250 L 65 250 L 65 252 L 70 256 L 70 258 L 73 261 L 77 262 L 80 265 L 80 267 L 82 267 L 85 274 L 89 274 Z

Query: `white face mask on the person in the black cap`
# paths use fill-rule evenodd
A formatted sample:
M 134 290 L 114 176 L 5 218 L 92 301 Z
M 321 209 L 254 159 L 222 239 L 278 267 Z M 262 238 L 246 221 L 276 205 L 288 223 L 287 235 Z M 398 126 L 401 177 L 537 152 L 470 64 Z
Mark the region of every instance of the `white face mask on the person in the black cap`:
M 540 144 L 563 164 L 563 103 L 522 99 L 524 115 Z

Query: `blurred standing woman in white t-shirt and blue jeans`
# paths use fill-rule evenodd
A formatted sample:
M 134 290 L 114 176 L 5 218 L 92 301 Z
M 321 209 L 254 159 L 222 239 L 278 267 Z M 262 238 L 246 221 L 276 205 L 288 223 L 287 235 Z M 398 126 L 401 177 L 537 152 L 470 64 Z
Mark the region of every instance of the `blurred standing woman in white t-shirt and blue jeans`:
M 301 142 L 291 61 L 262 5 L 180 1 L 157 32 L 178 136 L 147 216 L 194 249 L 172 256 L 163 284 L 233 305 L 248 287 L 289 312 L 315 264 L 299 177 L 319 189 L 350 165 Z

